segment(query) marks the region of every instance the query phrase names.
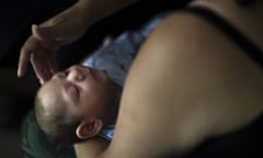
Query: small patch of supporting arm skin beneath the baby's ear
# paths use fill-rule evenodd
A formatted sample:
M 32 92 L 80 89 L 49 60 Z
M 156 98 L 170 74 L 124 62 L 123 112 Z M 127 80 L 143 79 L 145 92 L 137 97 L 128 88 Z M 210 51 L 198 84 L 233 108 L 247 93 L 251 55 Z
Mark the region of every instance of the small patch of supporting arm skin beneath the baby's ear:
M 95 158 L 104 151 L 108 144 L 107 139 L 95 136 L 84 143 L 75 144 L 73 147 L 77 158 Z

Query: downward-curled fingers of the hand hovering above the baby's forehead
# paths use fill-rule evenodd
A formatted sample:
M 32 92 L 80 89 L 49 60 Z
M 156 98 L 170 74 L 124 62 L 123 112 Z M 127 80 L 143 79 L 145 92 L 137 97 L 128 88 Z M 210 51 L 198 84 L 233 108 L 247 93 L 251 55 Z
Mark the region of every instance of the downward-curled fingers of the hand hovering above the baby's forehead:
M 55 59 L 56 42 L 38 41 L 31 36 L 21 49 L 18 76 L 23 77 L 31 61 L 36 77 L 46 81 L 58 70 Z

